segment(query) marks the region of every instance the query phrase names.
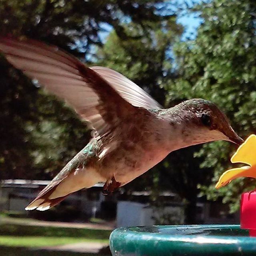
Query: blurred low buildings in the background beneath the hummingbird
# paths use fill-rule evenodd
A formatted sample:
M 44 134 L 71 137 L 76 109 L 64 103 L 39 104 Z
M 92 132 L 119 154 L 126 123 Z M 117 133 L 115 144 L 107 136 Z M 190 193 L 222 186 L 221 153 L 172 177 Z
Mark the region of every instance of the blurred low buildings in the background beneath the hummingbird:
M 4 180 L 0 183 L 0 211 L 24 212 L 24 208 L 37 196 L 37 194 L 50 183 L 46 180 Z M 96 184 L 90 189 L 80 190 L 68 196 L 61 202 L 58 210 L 62 214 L 70 213 L 70 220 L 86 220 L 98 217 L 106 220 L 116 219 L 116 226 L 152 226 L 162 224 L 161 220 L 169 224 L 184 223 L 185 204 L 171 192 L 160 194 L 162 207 L 152 207 L 149 204 L 150 192 L 132 192 L 129 196 L 115 192 L 112 196 L 102 195 L 103 184 Z M 70 212 L 70 209 L 73 212 Z M 76 217 L 74 215 L 74 210 Z M 69 212 L 68 212 L 69 211 Z M 33 217 L 44 218 L 47 212 L 26 212 Z M 41 215 L 40 215 L 41 214 Z M 198 223 L 239 223 L 239 213 L 228 214 L 228 206 L 222 202 L 210 202 L 198 198 Z

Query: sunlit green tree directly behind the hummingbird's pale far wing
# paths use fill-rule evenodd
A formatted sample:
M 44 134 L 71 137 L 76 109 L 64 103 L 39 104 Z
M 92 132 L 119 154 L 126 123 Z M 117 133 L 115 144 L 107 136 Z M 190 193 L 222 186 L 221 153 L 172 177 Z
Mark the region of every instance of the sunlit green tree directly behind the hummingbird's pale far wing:
M 172 78 L 172 57 L 168 54 L 182 33 L 173 15 L 166 22 L 148 21 L 150 30 L 140 24 L 124 25 L 130 39 L 118 37 L 115 31 L 97 52 L 100 66 L 112 68 L 151 94 L 160 104 L 165 104 L 165 81 Z

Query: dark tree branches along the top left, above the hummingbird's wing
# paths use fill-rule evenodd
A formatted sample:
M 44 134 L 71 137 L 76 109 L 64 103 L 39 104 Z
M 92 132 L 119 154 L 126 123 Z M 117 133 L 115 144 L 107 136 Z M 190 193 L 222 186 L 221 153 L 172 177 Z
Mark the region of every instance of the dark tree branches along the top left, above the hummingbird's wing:
M 168 20 L 175 1 L 165 0 L 0 0 L 1 35 L 25 35 L 56 44 L 76 56 L 102 46 L 102 33 L 114 28 L 127 38 L 122 24 L 134 22 L 143 30 L 148 21 Z M 72 47 L 70 47 L 72 46 Z M 86 56 L 87 58 L 88 56 Z

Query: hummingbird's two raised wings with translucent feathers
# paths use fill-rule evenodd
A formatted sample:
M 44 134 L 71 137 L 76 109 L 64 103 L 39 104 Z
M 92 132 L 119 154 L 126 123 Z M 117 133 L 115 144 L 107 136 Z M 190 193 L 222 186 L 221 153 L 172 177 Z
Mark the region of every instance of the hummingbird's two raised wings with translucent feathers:
M 136 84 L 106 68 L 88 68 L 77 58 L 35 40 L 0 38 L 0 52 L 16 68 L 63 98 L 82 119 L 90 122 L 95 136 L 108 133 L 136 107 L 158 104 Z

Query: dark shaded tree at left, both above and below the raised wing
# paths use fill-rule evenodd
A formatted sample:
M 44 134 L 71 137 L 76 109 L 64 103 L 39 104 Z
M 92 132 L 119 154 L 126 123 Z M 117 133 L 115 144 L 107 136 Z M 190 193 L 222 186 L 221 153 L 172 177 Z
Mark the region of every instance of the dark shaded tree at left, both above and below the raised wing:
M 173 16 L 168 6 L 157 0 L 0 0 L 0 31 L 58 45 L 88 62 L 106 29 L 123 40 L 132 36 L 125 30 L 130 22 L 149 33 Z M 4 58 L 0 68 L 0 178 L 49 179 L 88 142 L 89 132 Z

